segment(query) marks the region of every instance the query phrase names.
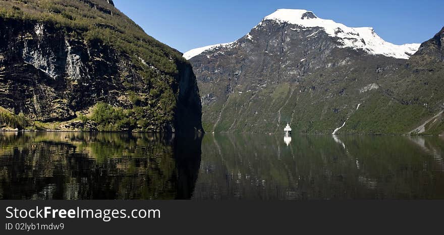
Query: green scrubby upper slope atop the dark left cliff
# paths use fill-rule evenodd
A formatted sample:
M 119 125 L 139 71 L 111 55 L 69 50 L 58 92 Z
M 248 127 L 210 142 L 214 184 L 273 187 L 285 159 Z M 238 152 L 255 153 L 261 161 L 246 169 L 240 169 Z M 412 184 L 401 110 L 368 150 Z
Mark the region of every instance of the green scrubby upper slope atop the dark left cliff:
M 140 56 L 169 74 L 177 73 L 172 58 L 185 61 L 180 52 L 148 36 L 131 19 L 103 0 L 0 1 L 0 17 L 75 29 L 86 40 L 100 40 L 133 57 Z

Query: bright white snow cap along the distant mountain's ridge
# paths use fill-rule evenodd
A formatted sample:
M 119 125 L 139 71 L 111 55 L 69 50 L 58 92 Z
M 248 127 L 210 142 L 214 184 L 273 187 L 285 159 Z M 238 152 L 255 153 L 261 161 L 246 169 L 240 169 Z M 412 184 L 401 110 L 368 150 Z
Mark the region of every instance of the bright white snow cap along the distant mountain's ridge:
M 395 45 L 393 43 L 384 41 L 374 32 L 373 28 L 371 27 L 347 27 L 344 24 L 340 24 L 332 20 L 321 19 L 307 10 L 279 9 L 266 16 L 256 27 L 254 27 L 254 29 L 258 28 L 268 20 L 275 21 L 279 24 L 298 26 L 291 29 L 294 31 L 318 28 L 319 30 L 327 33 L 330 37 L 336 38 L 339 43 L 339 47 L 348 47 L 356 50 L 362 49 L 368 54 L 380 54 L 395 58 L 408 59 L 418 50 L 420 46 L 419 43 Z M 318 32 L 310 34 L 308 37 L 313 37 L 316 33 Z M 250 34 L 247 34 L 246 37 L 248 39 L 253 39 Z M 235 46 L 235 43 L 236 42 L 230 42 L 195 48 L 185 52 L 183 56 L 189 60 L 190 58 L 204 51 Z

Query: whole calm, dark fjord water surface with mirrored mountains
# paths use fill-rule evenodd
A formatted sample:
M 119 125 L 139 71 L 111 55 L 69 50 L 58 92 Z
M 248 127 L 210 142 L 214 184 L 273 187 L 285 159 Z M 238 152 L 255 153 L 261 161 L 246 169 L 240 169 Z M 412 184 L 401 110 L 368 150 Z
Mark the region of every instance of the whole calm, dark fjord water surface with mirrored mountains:
M 444 137 L 0 133 L 1 199 L 444 199 Z

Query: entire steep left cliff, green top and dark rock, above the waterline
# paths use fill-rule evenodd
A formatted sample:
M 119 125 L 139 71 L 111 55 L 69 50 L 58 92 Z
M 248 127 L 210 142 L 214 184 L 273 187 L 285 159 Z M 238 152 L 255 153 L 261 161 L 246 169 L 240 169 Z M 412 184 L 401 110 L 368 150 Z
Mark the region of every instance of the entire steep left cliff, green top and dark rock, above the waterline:
M 190 64 L 112 1 L 0 7 L 4 128 L 202 131 Z

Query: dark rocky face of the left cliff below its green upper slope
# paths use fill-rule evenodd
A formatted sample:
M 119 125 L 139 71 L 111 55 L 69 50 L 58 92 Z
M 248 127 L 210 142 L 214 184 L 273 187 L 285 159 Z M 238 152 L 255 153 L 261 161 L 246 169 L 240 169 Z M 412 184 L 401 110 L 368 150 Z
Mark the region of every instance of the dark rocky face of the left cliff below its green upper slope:
M 89 6 L 92 14 L 96 10 L 98 16 L 124 17 L 112 1 L 106 6 L 98 1 L 83 2 L 76 4 Z M 173 68 L 165 71 L 149 56 L 142 57 L 137 48 L 132 54 L 100 36 L 86 38 L 95 29 L 128 36 L 117 26 L 95 23 L 88 27 L 91 29 L 1 17 L 0 106 L 15 114 L 24 113 L 30 126 L 36 121 L 58 122 L 54 129 L 100 130 L 103 120 L 93 115 L 100 116 L 95 107 L 105 103 L 123 114 L 116 120 L 105 120 L 103 126 L 125 119 L 124 124 L 114 125 L 111 129 L 117 130 L 113 131 L 202 130 L 196 78 L 179 52 L 161 52 Z M 156 43 L 160 45 L 146 42 L 142 49 L 159 47 Z

